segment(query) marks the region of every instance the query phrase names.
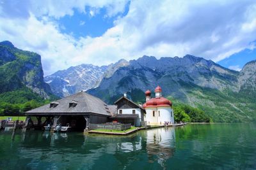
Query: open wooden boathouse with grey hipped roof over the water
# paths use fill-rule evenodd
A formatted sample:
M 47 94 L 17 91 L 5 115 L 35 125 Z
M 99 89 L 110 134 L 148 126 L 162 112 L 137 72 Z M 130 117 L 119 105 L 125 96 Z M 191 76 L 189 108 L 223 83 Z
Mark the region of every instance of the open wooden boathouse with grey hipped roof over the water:
M 109 117 L 116 112 L 115 110 L 115 106 L 108 106 L 97 97 L 86 92 L 78 92 L 27 111 L 25 113 L 27 116 L 25 127 L 42 129 L 48 124 L 52 127 L 61 124 L 69 125 L 76 131 L 84 131 L 84 129 L 88 129 L 89 124 L 108 122 Z M 33 124 L 31 117 L 36 117 L 36 124 Z

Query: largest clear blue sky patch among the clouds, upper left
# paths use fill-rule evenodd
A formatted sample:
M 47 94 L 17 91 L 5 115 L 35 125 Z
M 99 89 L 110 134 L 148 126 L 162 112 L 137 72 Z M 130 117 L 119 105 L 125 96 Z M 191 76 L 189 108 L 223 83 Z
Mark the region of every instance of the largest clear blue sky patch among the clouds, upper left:
M 129 3 L 125 5 L 125 10 L 117 13 L 113 17 L 107 17 L 106 8 L 97 10 L 90 9 L 89 6 L 85 7 L 88 13 L 81 13 L 74 10 L 73 15 L 65 15 L 56 20 L 60 27 L 60 31 L 65 34 L 71 34 L 74 38 L 90 36 L 92 38 L 102 36 L 104 32 L 114 26 L 114 21 L 118 17 L 124 17 L 129 10 Z

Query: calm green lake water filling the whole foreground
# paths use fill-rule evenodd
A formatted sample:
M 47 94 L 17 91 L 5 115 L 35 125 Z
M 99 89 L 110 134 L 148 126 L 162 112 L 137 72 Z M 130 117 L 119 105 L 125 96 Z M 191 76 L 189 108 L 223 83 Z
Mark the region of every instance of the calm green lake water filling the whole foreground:
M 1 131 L 0 169 L 256 169 L 256 124 L 192 124 L 125 137 Z

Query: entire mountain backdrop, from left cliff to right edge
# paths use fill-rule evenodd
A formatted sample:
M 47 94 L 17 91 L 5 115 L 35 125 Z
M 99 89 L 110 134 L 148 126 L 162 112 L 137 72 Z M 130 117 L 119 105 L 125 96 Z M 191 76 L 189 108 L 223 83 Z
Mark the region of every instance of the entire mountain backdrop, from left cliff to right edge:
M 186 103 L 205 111 L 212 122 L 256 120 L 256 60 L 234 71 L 202 57 L 143 56 L 109 66 L 81 64 L 43 77 L 40 55 L 0 43 L 1 93 L 19 88 L 41 97 L 65 97 L 81 90 L 113 102 L 127 92 L 136 103 L 145 102 L 145 90 L 160 85 L 174 104 Z M 44 79 L 44 80 L 43 80 Z M 47 83 L 45 83 L 46 81 Z M 51 87 L 51 88 L 50 88 Z

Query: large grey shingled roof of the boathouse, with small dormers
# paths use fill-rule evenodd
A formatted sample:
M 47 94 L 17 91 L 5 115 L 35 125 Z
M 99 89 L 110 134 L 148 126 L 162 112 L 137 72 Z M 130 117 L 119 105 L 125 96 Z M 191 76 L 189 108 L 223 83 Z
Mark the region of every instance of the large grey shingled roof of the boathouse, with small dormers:
M 72 104 L 70 104 L 72 103 Z M 58 101 L 27 111 L 26 115 L 70 115 L 95 113 L 111 116 L 108 105 L 86 92 L 78 92 Z

